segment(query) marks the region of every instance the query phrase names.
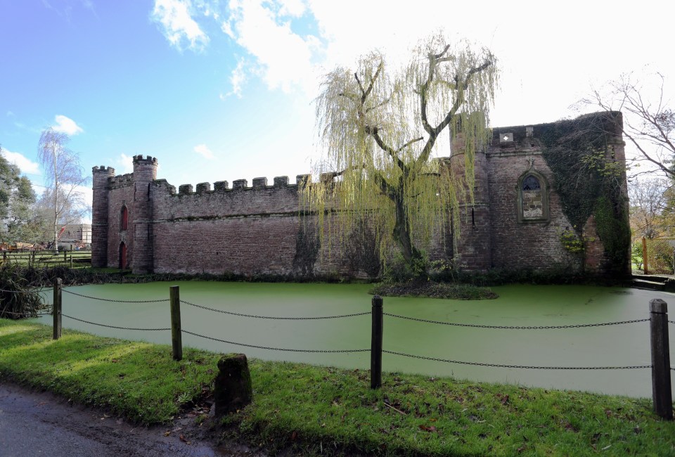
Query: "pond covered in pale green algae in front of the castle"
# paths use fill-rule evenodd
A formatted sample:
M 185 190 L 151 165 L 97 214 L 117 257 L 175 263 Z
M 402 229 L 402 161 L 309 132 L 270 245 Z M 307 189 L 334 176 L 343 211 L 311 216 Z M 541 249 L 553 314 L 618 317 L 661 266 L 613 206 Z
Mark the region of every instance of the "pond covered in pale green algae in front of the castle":
M 168 330 L 120 330 L 83 321 L 131 328 L 169 328 L 169 286 L 179 285 L 185 347 L 214 352 L 243 352 L 266 360 L 297 361 L 342 368 L 368 369 L 370 354 L 316 353 L 369 349 L 371 317 L 291 320 L 234 316 L 192 306 L 239 314 L 278 317 L 320 317 L 370 312 L 370 285 L 177 283 L 84 285 L 65 288 L 63 326 L 97 335 L 171 343 Z M 493 288 L 496 300 L 437 300 L 385 297 L 387 314 L 430 321 L 484 326 L 569 326 L 648 318 L 648 304 L 662 298 L 675 320 L 675 295 L 629 288 L 575 285 L 508 285 Z M 165 300 L 164 302 L 106 302 Z M 48 294 L 49 295 L 49 294 Z M 188 304 L 189 302 L 191 304 Z M 41 318 L 51 323 L 51 316 Z M 670 325 L 671 333 L 675 326 Z M 221 342 L 217 340 L 224 340 Z M 671 336 L 675 354 L 675 335 Z M 231 343 L 239 343 L 235 345 Z M 276 349 L 294 349 L 281 351 Z M 506 330 L 445 326 L 385 316 L 384 348 L 432 359 L 517 366 L 603 367 L 650 365 L 649 323 L 551 330 Z M 383 371 L 424 373 L 487 382 L 587 390 L 630 397 L 651 397 L 649 368 L 626 370 L 539 370 L 464 365 L 383 354 Z

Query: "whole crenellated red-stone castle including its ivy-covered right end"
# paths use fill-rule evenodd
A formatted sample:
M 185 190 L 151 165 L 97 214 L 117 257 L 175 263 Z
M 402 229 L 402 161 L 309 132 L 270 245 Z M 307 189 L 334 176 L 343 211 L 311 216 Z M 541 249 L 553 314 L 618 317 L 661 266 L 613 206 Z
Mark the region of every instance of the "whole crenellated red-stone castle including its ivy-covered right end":
M 593 134 L 595 149 L 578 141 L 593 125 L 602 127 L 600 134 Z M 437 234 L 425 247 L 430 258 L 475 271 L 544 269 L 558 264 L 591 273 L 629 273 L 629 240 L 610 239 L 624 230 L 628 220 L 621 128 L 620 113 L 610 112 L 493 129 L 491 144 L 475 154 L 473 202 L 462 205 L 461 230 Z M 618 166 L 618 190 L 612 191 L 611 204 L 604 206 L 609 210 L 593 204 L 607 200 L 598 193 L 601 185 L 594 187 L 592 195 L 577 194 L 569 188 L 577 184 L 563 179 L 568 169 L 576 168 L 574 164 L 596 157 L 589 155 L 591 149 L 596 155 L 600 150 L 603 164 Z M 456 138 L 451 157 L 445 160 L 453 172 L 462 172 L 462 154 L 462 140 Z M 556 154 L 572 162 L 555 162 Z M 134 273 L 240 276 L 378 273 L 378 263 L 373 266 L 362 255 L 368 240 L 355 239 L 355 245 L 329 253 L 304 230 L 307 221 L 317 219 L 316 214 L 300 211 L 297 183 L 309 179 L 308 175 L 298 175 L 295 184 L 281 176 L 271 184 L 266 178 L 255 178 L 248 186 L 240 179 L 231 188 L 227 181 L 218 181 L 213 188 L 210 183 L 197 184 L 196 189 L 186 184 L 176 192 L 165 179 L 157 179 L 156 158 L 138 155 L 133 162 L 134 172 L 120 176 L 110 167 L 93 169 L 93 266 L 131 268 Z M 586 168 L 581 171 L 591 177 L 581 174 L 577 181 L 595 179 L 593 167 Z M 591 210 L 581 205 L 574 212 L 574 205 L 584 199 L 593 200 Z M 619 224 L 619 229 L 612 224 Z M 569 233 L 582 240 L 582 257 L 565 244 Z M 355 260 L 355 253 L 361 253 L 359 259 Z

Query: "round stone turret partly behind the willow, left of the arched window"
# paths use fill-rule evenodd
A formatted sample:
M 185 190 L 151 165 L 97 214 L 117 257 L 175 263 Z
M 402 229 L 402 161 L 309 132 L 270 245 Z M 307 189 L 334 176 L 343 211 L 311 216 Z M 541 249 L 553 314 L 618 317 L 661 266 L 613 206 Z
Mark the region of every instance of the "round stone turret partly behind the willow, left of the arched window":
M 465 174 L 465 140 L 461 133 L 451 138 L 451 173 L 461 178 Z M 454 262 L 468 270 L 487 270 L 492 266 L 487 145 L 475 151 L 473 202 L 466 189 L 461 202 L 460 231 L 454 233 Z

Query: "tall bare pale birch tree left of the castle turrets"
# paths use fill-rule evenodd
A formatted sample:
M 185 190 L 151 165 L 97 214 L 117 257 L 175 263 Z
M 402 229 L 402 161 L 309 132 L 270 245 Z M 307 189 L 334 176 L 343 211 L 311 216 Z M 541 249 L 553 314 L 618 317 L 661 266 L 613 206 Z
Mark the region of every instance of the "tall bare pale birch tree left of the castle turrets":
M 51 127 L 42 131 L 38 146 L 38 159 L 44 169 L 46 191 L 41 198 L 43 204 L 49 201 L 53 217 L 53 246 L 58 250 L 59 231 L 65 224 L 79 222 L 88 208 L 79 186 L 89 178 L 83 176 L 77 153 L 66 146 L 68 135 Z

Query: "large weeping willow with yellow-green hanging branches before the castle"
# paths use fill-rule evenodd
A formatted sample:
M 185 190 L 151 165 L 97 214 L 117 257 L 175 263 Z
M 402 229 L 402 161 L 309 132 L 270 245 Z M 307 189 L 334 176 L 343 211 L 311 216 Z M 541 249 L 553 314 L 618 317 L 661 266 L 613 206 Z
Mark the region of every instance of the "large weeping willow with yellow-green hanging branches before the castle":
M 490 136 L 497 76 L 489 50 L 463 42 L 452 47 L 440 34 L 420 43 L 408 65 L 390 68 L 373 52 L 354 70 L 328 73 L 316 99 L 327 157 L 315 170 L 319 182 L 302 188 L 304 204 L 319 214 L 320 237 L 339 233 L 344 240 L 367 220 L 380 257 L 397 247 L 413 271 L 423 273 L 418 246 L 439 224 L 458 224 L 451 214 L 473 190 L 474 153 Z M 433 158 L 448 129 L 464 139 L 461 176 Z M 335 217 L 326 221 L 328 212 Z

